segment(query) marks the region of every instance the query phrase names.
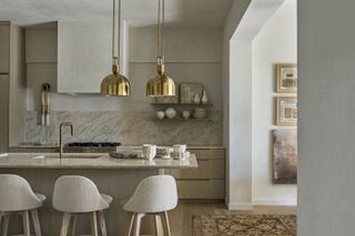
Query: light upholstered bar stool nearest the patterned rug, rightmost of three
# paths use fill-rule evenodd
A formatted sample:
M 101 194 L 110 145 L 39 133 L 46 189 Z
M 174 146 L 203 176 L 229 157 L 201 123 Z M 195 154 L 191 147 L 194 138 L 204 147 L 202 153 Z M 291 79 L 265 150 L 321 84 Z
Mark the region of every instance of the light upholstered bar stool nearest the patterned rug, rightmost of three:
M 159 234 L 160 222 L 164 235 L 171 236 L 168 211 L 178 205 L 175 178 L 170 175 L 154 175 L 144 178 L 135 188 L 133 196 L 124 204 L 123 209 L 131 213 L 126 236 L 140 235 L 141 219 L 154 215 L 155 233 Z

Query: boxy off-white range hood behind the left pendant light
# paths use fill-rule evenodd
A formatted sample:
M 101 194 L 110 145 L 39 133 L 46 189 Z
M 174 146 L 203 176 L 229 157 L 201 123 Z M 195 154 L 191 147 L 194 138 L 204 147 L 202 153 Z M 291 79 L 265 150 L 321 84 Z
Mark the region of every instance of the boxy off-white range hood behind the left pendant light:
M 111 21 L 58 22 L 58 92 L 100 93 L 112 72 Z M 121 72 L 128 75 L 128 25 L 122 27 Z

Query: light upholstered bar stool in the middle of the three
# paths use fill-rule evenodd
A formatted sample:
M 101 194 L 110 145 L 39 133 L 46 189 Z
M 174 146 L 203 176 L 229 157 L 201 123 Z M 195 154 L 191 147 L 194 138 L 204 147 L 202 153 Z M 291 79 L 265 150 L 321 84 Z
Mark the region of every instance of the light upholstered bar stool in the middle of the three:
M 64 175 L 54 184 L 53 207 L 63 212 L 60 236 L 67 236 L 71 226 L 71 235 L 75 235 L 77 216 L 90 214 L 91 233 L 99 235 L 98 218 L 102 236 L 108 235 L 103 209 L 110 207 L 112 197 L 100 194 L 97 185 L 84 176 Z

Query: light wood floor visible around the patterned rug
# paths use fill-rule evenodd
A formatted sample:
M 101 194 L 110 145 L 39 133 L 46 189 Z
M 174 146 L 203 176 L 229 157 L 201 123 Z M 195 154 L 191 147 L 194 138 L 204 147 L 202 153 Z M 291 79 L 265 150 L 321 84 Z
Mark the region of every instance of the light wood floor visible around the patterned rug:
M 221 213 L 253 213 L 253 214 L 295 214 L 296 208 L 291 206 L 255 206 L 252 212 L 227 211 L 224 203 L 179 203 L 179 206 L 169 212 L 172 236 L 191 236 L 192 235 L 192 216 L 201 214 L 221 214 Z M 149 225 L 153 222 L 145 222 L 144 232 L 152 232 Z M 145 228 L 145 229 L 144 229 Z M 144 234 L 150 235 L 150 234 Z

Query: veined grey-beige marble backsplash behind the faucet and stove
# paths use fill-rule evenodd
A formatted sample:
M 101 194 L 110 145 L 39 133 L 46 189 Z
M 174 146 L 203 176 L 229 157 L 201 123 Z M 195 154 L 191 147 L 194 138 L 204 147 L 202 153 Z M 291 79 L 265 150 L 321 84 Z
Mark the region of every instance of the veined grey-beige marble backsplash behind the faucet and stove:
M 159 121 L 152 112 L 120 111 L 58 111 L 51 112 L 50 125 L 38 125 L 36 111 L 28 111 L 26 119 L 24 143 L 59 143 L 59 125 L 71 122 L 64 127 L 67 142 L 121 142 L 123 145 L 143 143 L 189 145 L 222 145 L 222 112 L 210 114 L 211 121 Z

